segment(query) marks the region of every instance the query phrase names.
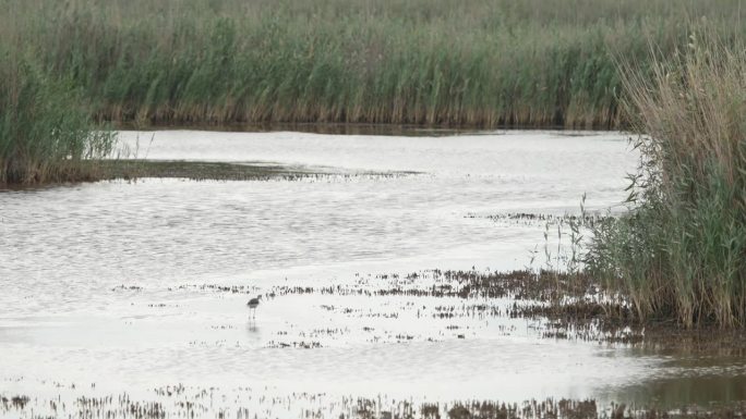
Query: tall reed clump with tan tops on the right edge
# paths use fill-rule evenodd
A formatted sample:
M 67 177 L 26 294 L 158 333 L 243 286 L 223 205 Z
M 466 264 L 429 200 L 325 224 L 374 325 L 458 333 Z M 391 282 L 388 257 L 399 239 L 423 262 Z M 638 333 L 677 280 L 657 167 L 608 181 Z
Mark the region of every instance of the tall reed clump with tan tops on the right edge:
M 595 229 L 589 268 L 642 319 L 746 325 L 746 50 L 712 34 L 651 71 L 626 63 L 642 161 L 630 212 Z

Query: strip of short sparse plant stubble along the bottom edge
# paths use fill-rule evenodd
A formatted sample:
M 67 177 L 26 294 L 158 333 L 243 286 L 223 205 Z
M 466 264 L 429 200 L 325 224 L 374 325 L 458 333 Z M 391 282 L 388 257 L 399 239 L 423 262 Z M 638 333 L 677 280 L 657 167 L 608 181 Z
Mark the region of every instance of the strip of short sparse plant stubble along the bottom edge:
M 220 389 L 205 389 L 177 384 L 159 387 L 154 391 L 155 397 L 140 399 L 129 393 L 80 395 L 65 397 L 58 395 L 51 399 L 29 397 L 14 393 L 0 393 L 0 412 L 20 415 L 33 411 L 34 418 L 67 416 L 70 418 L 142 418 L 157 419 L 164 417 L 212 417 L 252 418 L 257 411 L 270 416 L 281 411 L 293 416 L 314 418 L 418 418 L 418 419 L 659 419 L 659 418 L 739 418 L 746 412 L 746 405 L 733 403 L 727 406 L 684 406 L 677 410 L 660 408 L 641 409 L 625 404 L 602 404 L 594 399 L 545 398 L 529 399 L 520 403 L 501 402 L 496 399 L 473 399 L 452 402 L 397 400 L 386 396 L 368 398 L 364 396 L 335 396 L 314 393 L 293 393 L 292 396 L 261 397 L 260 403 L 251 403 L 250 389 L 241 390 L 240 396 L 249 402 L 232 406 L 216 407 L 215 403 L 205 402 L 205 395 L 217 393 Z M 153 400 L 156 398 L 156 400 Z M 62 403 L 61 400 L 64 400 Z M 317 405 L 322 404 L 323 407 Z M 44 412 L 44 416 L 39 414 Z M 290 416 L 290 415 L 288 415 Z

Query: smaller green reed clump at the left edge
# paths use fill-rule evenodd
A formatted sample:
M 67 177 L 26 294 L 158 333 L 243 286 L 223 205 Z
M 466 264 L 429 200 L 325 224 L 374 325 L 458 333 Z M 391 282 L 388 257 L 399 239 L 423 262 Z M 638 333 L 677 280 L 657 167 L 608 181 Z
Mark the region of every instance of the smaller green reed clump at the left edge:
M 113 133 L 95 130 L 69 82 L 0 52 L 0 184 L 93 180 Z

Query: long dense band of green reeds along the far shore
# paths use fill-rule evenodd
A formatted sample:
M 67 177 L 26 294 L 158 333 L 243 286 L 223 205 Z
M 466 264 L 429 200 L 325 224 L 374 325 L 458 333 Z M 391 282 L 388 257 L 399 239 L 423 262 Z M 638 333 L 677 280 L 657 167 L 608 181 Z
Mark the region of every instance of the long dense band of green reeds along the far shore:
M 739 3 L 5 0 L 0 39 L 99 120 L 617 127 L 611 51 L 733 37 Z

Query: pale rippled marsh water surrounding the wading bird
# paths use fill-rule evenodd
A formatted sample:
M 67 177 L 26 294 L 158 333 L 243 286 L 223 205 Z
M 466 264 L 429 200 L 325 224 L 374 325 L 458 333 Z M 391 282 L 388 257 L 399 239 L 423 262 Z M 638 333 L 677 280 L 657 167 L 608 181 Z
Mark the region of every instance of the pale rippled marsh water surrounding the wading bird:
M 624 211 L 637 156 L 623 134 L 158 131 L 120 140 L 139 159 L 324 175 L 0 193 L 0 395 L 153 399 L 183 385 L 209 389 L 205 415 L 255 406 L 273 417 L 309 406 L 336 415 L 328 400 L 345 396 L 746 399 L 743 354 L 546 338 L 542 319 L 477 308 L 508 298 L 376 294 L 428 289 L 437 270 L 560 264 L 567 237 L 541 220 L 578 213 L 583 194 L 588 211 Z M 266 406 L 298 394 L 301 407 Z

